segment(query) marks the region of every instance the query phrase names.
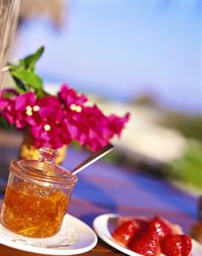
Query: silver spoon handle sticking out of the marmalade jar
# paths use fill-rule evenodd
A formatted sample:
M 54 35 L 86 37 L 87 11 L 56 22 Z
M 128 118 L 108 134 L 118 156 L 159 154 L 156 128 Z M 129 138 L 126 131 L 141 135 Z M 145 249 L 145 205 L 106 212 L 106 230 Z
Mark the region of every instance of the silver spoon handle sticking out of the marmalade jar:
M 85 169 L 88 165 L 96 162 L 99 158 L 104 157 L 107 153 L 109 153 L 114 146 L 111 144 L 108 144 L 107 146 L 104 146 L 97 152 L 93 152 L 92 155 L 89 158 L 86 158 L 82 163 L 78 164 L 73 170 L 71 170 L 71 174 L 75 175 L 80 172 L 80 170 Z

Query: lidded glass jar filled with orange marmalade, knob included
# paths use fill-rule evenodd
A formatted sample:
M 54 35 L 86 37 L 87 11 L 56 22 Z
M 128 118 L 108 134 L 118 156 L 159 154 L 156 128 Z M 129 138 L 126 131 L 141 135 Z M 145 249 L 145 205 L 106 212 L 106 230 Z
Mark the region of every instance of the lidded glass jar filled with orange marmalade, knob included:
M 55 163 L 58 155 L 40 148 L 38 161 L 11 162 L 1 212 L 6 229 L 33 238 L 59 231 L 77 177 Z

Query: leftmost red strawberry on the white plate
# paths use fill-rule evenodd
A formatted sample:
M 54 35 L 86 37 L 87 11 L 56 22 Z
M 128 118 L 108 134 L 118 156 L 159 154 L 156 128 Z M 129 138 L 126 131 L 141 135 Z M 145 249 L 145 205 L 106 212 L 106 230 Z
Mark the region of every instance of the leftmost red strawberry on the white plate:
M 126 247 L 134 238 L 135 230 L 134 222 L 128 221 L 115 229 L 112 237 Z

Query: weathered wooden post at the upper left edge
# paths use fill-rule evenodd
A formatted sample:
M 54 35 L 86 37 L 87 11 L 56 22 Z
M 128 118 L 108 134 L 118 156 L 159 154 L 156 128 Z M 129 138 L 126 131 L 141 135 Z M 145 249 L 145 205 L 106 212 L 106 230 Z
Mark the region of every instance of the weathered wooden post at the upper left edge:
M 9 60 L 20 7 L 21 0 L 0 0 L 0 88 L 4 77 L 2 69 Z

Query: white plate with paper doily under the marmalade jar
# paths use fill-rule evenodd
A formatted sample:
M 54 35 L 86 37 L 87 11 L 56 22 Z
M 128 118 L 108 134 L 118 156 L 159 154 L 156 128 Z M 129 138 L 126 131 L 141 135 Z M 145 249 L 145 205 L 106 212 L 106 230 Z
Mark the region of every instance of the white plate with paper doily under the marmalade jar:
M 1 224 L 0 233 L 0 243 L 5 246 L 31 253 L 49 255 L 75 255 L 86 253 L 95 247 L 98 241 L 97 235 L 86 223 L 83 223 L 78 218 L 69 214 L 65 215 L 61 230 L 50 238 L 30 239 L 10 232 L 8 229 L 3 228 Z M 65 235 L 68 235 L 68 244 L 72 245 L 65 245 Z M 41 244 L 42 247 L 39 244 Z

